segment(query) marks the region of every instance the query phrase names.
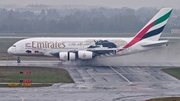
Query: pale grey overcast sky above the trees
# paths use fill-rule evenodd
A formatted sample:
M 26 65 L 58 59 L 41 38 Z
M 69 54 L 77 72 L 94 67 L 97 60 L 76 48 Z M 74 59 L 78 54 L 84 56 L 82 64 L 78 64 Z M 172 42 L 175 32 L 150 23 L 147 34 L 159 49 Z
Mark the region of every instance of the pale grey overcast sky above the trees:
M 173 7 L 180 8 L 180 0 L 0 0 L 0 4 L 89 5 L 105 7 Z

